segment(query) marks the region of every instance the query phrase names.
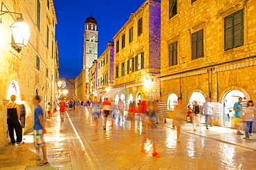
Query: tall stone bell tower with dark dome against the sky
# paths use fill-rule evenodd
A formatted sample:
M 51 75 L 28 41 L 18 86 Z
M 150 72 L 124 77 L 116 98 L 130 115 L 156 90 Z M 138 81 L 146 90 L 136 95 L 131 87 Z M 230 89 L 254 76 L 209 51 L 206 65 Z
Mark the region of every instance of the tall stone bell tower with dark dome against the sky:
M 89 68 L 93 61 L 98 59 L 98 25 L 92 16 L 84 23 L 84 54 L 83 69 L 86 72 L 86 83 L 89 83 Z

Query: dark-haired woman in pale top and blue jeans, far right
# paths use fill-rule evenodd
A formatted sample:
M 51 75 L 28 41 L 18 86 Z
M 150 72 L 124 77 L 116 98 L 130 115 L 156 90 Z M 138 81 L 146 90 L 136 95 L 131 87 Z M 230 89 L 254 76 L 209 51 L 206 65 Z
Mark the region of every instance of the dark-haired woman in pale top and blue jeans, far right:
M 244 131 L 246 137 L 243 139 L 250 139 L 253 132 L 253 121 L 255 120 L 256 107 L 253 106 L 253 100 L 249 100 L 246 109 L 244 109 Z

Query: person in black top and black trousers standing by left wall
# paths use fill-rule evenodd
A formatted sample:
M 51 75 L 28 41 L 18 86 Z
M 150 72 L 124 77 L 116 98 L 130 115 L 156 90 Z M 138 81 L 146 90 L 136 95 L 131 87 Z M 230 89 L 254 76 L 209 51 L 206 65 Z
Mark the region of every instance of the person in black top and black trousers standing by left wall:
M 10 136 L 10 142 L 12 145 L 15 145 L 15 135 L 14 130 L 16 133 L 16 142 L 17 144 L 24 143 L 22 141 L 22 127 L 19 123 L 19 105 L 15 103 L 16 96 L 11 95 L 10 101 L 7 104 L 7 125 L 8 125 L 8 131 Z

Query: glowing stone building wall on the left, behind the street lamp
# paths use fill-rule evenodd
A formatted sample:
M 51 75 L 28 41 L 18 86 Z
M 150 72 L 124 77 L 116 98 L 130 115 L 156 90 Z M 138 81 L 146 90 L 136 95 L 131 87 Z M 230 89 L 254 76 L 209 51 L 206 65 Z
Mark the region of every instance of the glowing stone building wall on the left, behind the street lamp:
M 26 96 L 27 120 L 24 131 L 33 127 L 32 103 L 35 94 L 42 96 L 42 107 L 53 104 L 57 96 L 58 56 L 55 41 L 57 23 L 53 0 L 1 0 L 0 12 L 0 147 L 9 141 L 6 104 L 11 94 Z M 26 47 L 12 41 L 10 25 L 21 13 L 30 29 Z M 17 103 L 21 103 L 17 98 Z

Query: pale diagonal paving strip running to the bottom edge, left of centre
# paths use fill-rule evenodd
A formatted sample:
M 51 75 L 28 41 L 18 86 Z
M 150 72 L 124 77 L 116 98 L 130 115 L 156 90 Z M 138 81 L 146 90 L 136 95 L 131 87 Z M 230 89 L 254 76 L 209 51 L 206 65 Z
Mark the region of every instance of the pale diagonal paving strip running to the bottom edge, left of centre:
M 66 112 L 66 115 L 68 116 L 68 119 L 70 120 L 71 125 L 73 125 L 73 130 L 75 131 L 77 136 L 80 136 L 80 142 L 82 142 L 82 144 L 85 146 L 84 151 L 88 154 L 89 158 L 91 158 L 91 162 L 93 163 L 95 169 L 104 169 L 100 160 L 95 155 L 93 149 L 89 145 L 89 142 L 82 135 L 82 131 L 80 131 L 80 129 L 78 129 L 78 128 L 75 128 L 75 125 L 73 124 L 73 121 L 72 121 L 71 117 L 69 116 L 68 112 Z

